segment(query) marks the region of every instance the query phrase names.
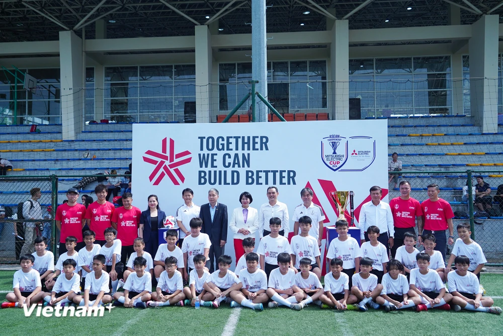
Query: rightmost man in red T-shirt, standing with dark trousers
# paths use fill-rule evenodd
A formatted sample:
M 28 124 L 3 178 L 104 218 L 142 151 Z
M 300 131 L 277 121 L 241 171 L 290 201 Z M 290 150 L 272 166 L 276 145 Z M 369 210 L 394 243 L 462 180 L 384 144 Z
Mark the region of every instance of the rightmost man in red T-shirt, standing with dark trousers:
M 420 225 L 418 229 L 420 235 L 431 233 L 435 236 L 437 243 L 435 249 L 442 253 L 445 260 L 447 243 L 449 243 L 449 245 L 454 244 L 454 226 L 452 224 L 454 213 L 452 212 L 449 202 L 438 197 L 439 193 L 440 189 L 437 184 L 433 183 L 428 185 L 428 197 L 430 197 L 430 199 L 424 200 L 423 203 L 421 203 L 424 227 Z M 445 235 L 447 229 L 449 229 L 449 239 L 446 239 Z M 418 237 L 417 240 L 420 244 L 423 243 L 421 237 Z

